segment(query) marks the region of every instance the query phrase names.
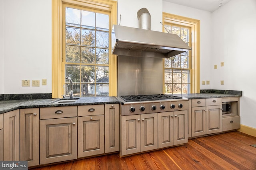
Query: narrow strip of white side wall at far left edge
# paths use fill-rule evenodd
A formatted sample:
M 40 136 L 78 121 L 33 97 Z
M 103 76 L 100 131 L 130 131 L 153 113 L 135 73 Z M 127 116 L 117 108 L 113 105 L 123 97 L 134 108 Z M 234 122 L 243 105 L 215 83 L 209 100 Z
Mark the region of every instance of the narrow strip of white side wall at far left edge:
M 0 0 L 0 94 L 4 94 L 4 0 Z

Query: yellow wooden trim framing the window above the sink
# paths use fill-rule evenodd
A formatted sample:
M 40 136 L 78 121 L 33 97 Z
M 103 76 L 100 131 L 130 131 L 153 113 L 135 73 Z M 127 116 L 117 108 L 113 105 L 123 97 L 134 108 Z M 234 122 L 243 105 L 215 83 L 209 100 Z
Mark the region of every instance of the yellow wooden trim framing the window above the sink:
M 52 0 L 52 98 L 60 98 L 62 82 L 62 4 L 86 6 L 111 13 L 111 27 L 117 23 L 117 2 L 112 0 Z M 110 43 L 111 44 L 111 43 Z M 117 56 L 109 59 L 109 96 L 117 95 Z

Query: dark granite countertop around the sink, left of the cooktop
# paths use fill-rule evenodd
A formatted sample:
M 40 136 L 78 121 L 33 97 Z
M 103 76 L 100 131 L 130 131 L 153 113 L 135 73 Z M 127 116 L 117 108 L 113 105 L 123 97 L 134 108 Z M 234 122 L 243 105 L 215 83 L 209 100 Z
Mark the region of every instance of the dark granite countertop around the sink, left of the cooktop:
M 80 98 L 73 103 L 57 103 L 60 99 L 30 99 L 30 100 L 4 100 L 0 101 L 0 114 L 8 111 L 24 108 L 36 107 L 56 107 L 56 106 L 79 106 L 93 104 L 118 104 L 120 101 L 116 97 L 86 97 Z

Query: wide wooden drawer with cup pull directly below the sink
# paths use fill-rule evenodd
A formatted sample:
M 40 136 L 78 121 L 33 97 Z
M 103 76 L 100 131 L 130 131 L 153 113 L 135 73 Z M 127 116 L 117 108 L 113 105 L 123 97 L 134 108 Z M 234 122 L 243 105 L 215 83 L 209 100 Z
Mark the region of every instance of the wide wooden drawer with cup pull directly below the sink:
M 76 117 L 77 106 L 43 107 L 40 108 L 40 119 Z

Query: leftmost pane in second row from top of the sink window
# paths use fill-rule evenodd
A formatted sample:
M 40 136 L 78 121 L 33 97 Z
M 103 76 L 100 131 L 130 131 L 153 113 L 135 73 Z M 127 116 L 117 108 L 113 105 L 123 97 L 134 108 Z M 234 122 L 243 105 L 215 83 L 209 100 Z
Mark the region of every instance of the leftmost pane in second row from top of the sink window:
M 66 44 L 80 44 L 80 29 L 66 27 Z

